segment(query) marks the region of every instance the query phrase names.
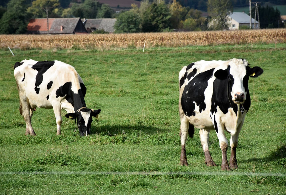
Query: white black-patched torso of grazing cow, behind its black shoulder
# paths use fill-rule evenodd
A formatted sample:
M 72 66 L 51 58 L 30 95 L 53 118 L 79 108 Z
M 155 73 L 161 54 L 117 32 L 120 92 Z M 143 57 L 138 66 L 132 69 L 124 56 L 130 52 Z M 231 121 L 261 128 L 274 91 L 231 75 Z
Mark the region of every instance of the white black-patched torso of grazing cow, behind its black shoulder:
M 57 90 L 67 86 L 74 93 L 81 88 L 82 79 L 73 66 L 60 61 L 23 60 L 14 66 L 14 76 L 22 91 L 30 100 L 32 108 L 51 108 L 51 101 L 62 101 Z M 57 97 L 58 96 L 58 97 Z

